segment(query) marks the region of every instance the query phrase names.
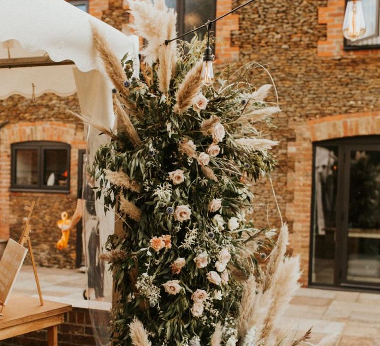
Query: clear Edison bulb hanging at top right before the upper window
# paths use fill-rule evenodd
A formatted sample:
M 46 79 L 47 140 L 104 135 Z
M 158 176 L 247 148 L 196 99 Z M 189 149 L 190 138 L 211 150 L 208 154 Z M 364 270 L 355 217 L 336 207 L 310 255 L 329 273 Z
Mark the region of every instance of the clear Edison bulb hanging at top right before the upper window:
M 362 0 L 348 0 L 343 21 L 343 36 L 350 41 L 361 39 L 366 33 Z

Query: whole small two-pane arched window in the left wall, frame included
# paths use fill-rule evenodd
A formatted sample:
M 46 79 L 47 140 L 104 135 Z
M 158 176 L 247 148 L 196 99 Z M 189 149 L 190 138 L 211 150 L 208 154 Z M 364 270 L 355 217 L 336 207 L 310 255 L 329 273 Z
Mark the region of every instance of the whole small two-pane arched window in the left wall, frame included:
M 49 141 L 12 144 L 11 190 L 69 192 L 70 145 Z

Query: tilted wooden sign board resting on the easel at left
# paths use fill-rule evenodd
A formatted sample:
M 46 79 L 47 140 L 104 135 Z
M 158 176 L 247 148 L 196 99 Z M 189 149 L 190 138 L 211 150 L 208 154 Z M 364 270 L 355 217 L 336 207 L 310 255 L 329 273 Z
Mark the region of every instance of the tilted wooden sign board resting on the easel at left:
M 0 303 L 6 305 L 17 275 L 28 250 L 13 239 L 8 244 L 0 260 Z

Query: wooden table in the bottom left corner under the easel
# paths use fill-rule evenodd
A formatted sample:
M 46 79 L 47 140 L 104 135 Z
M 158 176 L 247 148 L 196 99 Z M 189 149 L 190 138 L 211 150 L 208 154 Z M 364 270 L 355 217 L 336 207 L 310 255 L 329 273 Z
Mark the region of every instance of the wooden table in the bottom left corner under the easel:
M 39 299 L 11 295 L 2 310 L 0 340 L 47 329 L 47 345 L 58 346 L 58 325 L 71 309 L 68 304 L 45 301 L 41 306 Z

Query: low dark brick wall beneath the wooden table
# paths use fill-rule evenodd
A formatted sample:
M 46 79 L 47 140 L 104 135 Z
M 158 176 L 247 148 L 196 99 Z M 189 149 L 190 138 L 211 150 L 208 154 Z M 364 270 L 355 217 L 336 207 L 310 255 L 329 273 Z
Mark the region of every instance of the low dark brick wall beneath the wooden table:
M 107 314 L 107 312 L 100 311 Z M 0 346 L 47 346 L 47 330 L 36 331 L 0 342 Z M 58 327 L 58 346 L 94 346 L 95 340 L 88 309 L 74 308 Z

